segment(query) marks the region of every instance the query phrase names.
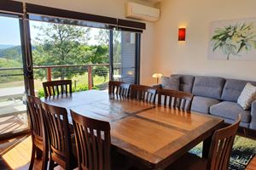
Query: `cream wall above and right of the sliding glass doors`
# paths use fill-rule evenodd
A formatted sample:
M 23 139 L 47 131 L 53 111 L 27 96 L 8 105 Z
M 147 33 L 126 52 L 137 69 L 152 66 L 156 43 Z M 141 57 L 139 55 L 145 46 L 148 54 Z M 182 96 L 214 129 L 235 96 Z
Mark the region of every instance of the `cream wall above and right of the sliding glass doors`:
M 88 14 L 125 19 L 125 0 L 17 0 L 54 8 L 63 8 Z M 141 52 L 141 83 L 150 84 L 152 81 L 154 53 L 154 26 L 146 23 L 147 29 L 142 36 Z

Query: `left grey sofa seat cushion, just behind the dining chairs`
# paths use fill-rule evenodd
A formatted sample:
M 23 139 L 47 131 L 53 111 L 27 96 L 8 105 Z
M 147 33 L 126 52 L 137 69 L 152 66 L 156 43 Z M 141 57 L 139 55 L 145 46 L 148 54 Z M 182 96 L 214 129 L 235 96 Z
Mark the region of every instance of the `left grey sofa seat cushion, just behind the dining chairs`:
M 220 101 L 218 99 L 194 96 L 192 105 L 191 105 L 191 111 L 197 111 L 197 112 L 209 114 L 210 107 L 212 105 L 218 104 L 219 102 Z

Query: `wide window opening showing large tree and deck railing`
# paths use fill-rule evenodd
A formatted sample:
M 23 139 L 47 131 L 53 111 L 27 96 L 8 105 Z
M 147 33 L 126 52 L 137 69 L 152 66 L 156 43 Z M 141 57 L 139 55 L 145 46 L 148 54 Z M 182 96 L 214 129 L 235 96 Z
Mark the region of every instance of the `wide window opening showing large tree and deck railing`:
M 111 79 L 137 83 L 137 33 L 34 14 L 30 19 L 34 88 L 39 97 L 44 96 L 45 81 L 72 79 L 75 92 L 106 90 Z

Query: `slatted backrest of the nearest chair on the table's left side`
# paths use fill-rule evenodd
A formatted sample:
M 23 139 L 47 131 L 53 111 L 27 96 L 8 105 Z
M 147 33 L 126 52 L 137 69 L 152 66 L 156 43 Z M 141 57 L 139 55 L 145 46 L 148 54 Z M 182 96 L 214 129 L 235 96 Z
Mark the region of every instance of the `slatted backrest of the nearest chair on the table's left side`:
M 79 169 L 110 169 L 110 125 L 71 111 Z

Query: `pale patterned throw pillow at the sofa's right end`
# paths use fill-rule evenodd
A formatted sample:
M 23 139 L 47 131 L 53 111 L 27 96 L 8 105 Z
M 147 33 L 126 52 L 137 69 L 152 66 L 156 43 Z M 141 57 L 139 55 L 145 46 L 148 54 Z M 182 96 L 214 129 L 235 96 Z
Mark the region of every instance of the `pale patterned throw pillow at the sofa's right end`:
M 247 85 L 243 88 L 237 99 L 237 103 L 241 105 L 244 110 L 248 110 L 254 99 L 256 99 L 256 87 L 250 82 L 247 82 Z

